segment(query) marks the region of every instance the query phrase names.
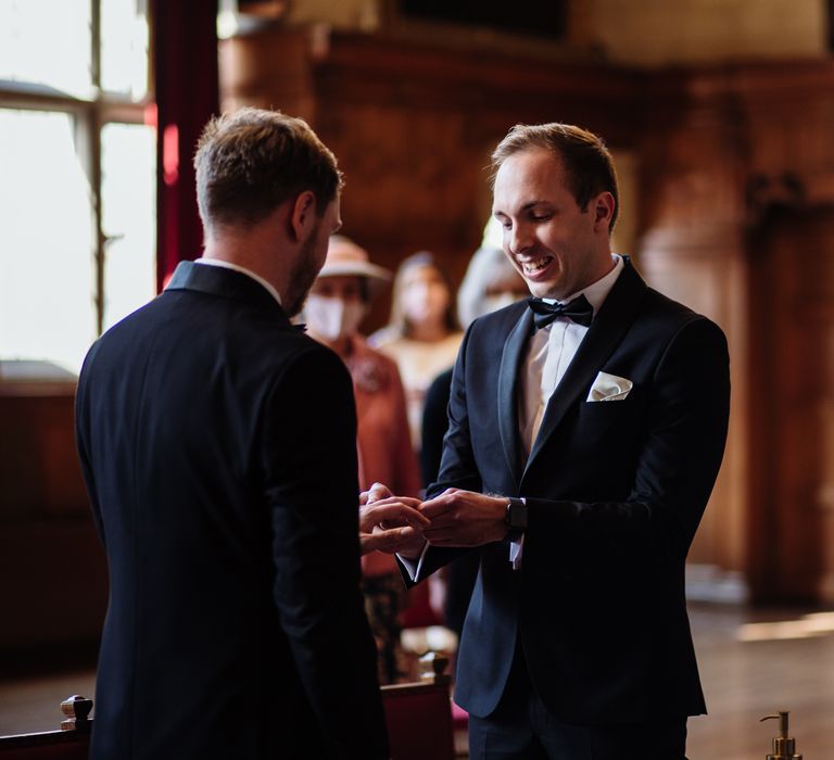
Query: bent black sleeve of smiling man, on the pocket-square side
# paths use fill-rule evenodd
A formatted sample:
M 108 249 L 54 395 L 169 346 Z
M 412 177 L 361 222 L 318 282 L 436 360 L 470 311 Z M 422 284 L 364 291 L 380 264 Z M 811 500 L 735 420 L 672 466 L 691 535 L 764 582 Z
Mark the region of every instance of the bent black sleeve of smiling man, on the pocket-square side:
M 680 565 L 721 465 L 729 410 L 724 335 L 707 319 L 692 320 L 671 339 L 655 371 L 628 498 L 528 498 L 525 562 L 581 554 L 620 567 L 641 556 Z

